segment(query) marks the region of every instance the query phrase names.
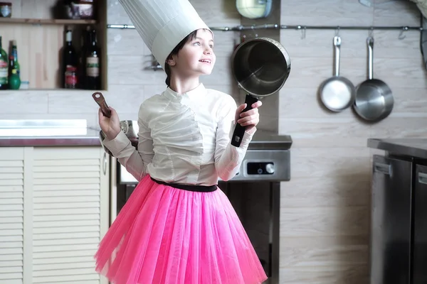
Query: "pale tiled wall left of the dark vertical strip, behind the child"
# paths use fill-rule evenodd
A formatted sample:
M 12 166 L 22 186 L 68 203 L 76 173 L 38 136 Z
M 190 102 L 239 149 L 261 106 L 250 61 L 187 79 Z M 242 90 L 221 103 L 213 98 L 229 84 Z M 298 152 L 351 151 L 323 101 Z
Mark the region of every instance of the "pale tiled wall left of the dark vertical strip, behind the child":
M 240 16 L 233 1 L 191 1 L 209 26 L 238 26 Z M 107 23 L 132 24 L 117 0 L 107 0 Z M 235 33 L 215 32 L 216 66 L 211 76 L 201 78 L 206 87 L 233 94 L 230 58 Z M 137 119 L 139 104 L 162 92 L 166 75 L 163 70 L 145 70 L 151 53 L 134 29 L 107 31 L 108 90 L 107 104 L 120 119 Z M 40 90 L 0 92 L 0 119 L 87 119 L 97 125 L 97 105 L 90 91 Z M 239 97 L 238 94 L 235 96 Z M 237 99 L 238 100 L 238 99 Z

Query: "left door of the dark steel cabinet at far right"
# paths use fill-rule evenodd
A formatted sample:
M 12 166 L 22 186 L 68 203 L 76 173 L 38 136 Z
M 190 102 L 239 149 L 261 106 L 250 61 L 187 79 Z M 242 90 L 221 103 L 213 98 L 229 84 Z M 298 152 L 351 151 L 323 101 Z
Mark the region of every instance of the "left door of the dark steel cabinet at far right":
M 374 155 L 371 284 L 410 283 L 411 168 L 411 161 Z

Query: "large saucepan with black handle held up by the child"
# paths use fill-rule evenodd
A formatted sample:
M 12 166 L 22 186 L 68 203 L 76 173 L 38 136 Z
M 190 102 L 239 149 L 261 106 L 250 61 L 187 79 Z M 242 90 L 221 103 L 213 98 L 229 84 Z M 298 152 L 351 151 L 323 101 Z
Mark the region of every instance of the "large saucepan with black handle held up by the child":
M 246 92 L 246 109 L 258 99 L 278 92 L 290 73 L 290 58 L 283 46 L 272 38 L 251 38 L 238 45 L 232 55 L 231 70 L 238 87 Z M 236 124 L 231 145 L 239 147 L 245 126 Z

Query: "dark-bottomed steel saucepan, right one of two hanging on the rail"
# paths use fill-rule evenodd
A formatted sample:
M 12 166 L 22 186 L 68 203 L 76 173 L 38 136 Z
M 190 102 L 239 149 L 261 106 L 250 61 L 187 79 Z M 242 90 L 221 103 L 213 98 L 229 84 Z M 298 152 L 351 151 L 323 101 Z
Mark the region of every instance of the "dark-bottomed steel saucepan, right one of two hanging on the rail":
M 374 38 L 367 38 L 368 45 L 368 80 L 356 88 L 354 111 L 366 121 L 379 121 L 391 113 L 394 105 L 391 89 L 374 77 Z

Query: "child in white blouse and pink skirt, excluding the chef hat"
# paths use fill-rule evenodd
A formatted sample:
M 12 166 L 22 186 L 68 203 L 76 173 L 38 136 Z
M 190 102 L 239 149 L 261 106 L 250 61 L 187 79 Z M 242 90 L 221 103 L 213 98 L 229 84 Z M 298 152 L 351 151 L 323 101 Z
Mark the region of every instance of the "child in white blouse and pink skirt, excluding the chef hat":
M 213 33 L 206 27 L 170 50 L 163 63 L 167 89 L 139 108 L 137 150 L 120 131 L 116 111 L 110 108 L 110 118 L 99 111 L 105 146 L 139 181 L 95 255 L 96 270 L 112 283 L 258 284 L 267 279 L 236 212 L 217 187 L 218 178 L 236 175 L 261 102 L 242 113 L 246 104 L 237 107 L 228 94 L 199 82 L 214 67 L 213 48 Z M 238 148 L 230 143 L 236 123 L 247 126 Z

